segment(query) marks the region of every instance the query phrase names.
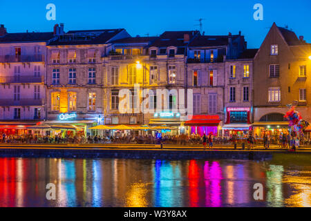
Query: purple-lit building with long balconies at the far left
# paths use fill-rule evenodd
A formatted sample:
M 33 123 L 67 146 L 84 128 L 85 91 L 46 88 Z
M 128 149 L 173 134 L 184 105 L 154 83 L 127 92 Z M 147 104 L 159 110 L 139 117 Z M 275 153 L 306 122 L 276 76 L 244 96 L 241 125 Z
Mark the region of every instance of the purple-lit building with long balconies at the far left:
M 23 134 L 46 118 L 46 44 L 53 39 L 53 32 L 8 33 L 0 26 L 1 132 Z

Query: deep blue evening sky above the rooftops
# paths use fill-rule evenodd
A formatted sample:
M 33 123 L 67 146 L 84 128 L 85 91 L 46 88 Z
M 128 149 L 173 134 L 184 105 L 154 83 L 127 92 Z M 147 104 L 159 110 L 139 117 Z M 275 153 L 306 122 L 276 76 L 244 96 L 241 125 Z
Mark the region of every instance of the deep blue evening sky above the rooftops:
M 56 6 L 56 21 L 46 20 L 46 5 Z M 253 19 L 253 6 L 263 4 L 263 21 Z M 0 0 L 0 23 L 8 32 L 126 28 L 132 35 L 160 35 L 164 30 L 199 29 L 205 35 L 245 35 L 248 48 L 258 48 L 275 21 L 288 25 L 311 43 L 310 0 Z

